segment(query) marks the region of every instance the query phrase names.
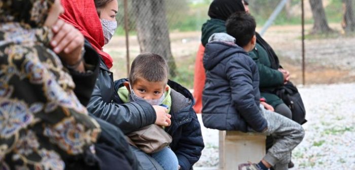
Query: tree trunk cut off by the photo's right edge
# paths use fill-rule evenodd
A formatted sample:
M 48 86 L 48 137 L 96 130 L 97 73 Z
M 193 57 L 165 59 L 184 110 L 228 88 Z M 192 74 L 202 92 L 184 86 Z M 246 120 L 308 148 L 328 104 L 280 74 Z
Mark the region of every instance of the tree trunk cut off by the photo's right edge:
M 354 11 L 352 9 L 352 0 L 343 0 L 343 21 L 342 27 L 345 32 L 352 32 L 355 30 Z

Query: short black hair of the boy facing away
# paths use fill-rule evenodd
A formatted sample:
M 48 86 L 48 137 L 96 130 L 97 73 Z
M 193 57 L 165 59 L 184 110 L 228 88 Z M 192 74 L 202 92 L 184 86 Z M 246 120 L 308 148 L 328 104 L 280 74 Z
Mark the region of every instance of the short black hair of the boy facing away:
M 235 38 L 235 44 L 246 46 L 255 35 L 257 24 L 253 16 L 246 12 L 232 14 L 226 22 L 227 33 Z

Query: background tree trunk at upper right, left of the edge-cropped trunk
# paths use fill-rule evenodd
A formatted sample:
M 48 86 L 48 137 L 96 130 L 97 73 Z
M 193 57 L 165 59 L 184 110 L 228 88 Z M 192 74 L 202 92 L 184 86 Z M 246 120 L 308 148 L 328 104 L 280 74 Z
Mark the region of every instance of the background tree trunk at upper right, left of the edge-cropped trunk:
M 322 0 L 309 0 L 309 4 L 311 6 L 313 19 L 314 19 L 314 24 L 313 24 L 311 34 L 333 32 L 333 30 L 328 25 Z

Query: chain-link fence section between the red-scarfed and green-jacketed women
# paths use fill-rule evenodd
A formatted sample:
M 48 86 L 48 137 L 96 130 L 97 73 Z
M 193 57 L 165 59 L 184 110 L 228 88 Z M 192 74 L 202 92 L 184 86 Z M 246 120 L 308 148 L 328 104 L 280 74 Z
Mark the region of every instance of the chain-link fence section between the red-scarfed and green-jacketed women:
M 192 88 L 201 25 L 210 1 L 128 0 L 130 62 L 141 51 L 165 57 L 171 78 Z M 124 1 L 119 0 L 119 28 L 104 47 L 114 57 L 115 78 L 127 76 Z

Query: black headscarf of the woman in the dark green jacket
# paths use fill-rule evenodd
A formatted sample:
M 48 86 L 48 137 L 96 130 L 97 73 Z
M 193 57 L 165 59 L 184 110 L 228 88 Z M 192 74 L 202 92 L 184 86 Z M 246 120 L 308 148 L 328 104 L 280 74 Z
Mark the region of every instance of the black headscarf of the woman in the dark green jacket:
M 241 0 L 214 0 L 209 6 L 208 16 L 226 21 L 235 12 L 245 11 Z

